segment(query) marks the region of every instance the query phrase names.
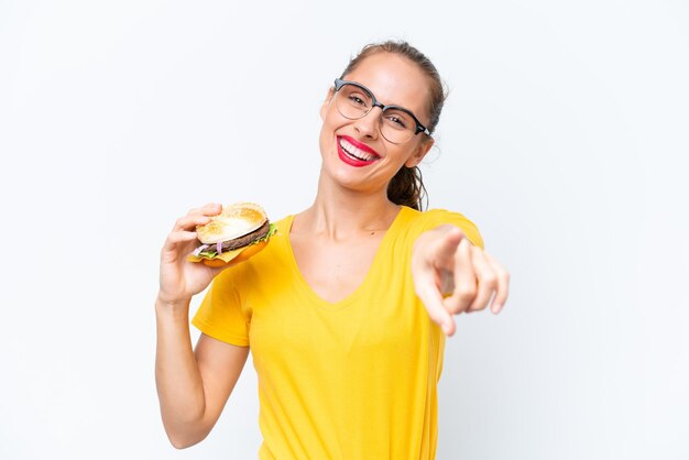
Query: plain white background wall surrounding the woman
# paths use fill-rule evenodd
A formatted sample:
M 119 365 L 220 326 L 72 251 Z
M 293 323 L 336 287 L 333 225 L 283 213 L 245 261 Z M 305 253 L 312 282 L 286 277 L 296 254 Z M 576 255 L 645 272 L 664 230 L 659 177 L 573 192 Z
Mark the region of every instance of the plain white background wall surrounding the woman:
M 438 458 L 689 458 L 679 0 L 0 1 L 0 458 L 255 458 L 251 359 L 206 441 L 165 438 L 158 250 L 207 201 L 308 206 L 326 90 L 389 37 L 450 88 L 431 207 L 513 281 L 448 340 Z

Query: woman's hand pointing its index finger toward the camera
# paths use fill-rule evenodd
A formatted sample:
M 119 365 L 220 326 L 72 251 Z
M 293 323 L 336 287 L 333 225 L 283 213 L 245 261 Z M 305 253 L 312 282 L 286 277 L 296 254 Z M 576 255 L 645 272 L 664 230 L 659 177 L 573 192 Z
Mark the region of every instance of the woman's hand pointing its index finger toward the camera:
M 491 310 L 497 314 L 510 291 L 510 273 L 450 224 L 416 239 L 412 275 L 416 295 L 447 336 L 455 333 L 452 315 L 482 310 L 491 297 Z

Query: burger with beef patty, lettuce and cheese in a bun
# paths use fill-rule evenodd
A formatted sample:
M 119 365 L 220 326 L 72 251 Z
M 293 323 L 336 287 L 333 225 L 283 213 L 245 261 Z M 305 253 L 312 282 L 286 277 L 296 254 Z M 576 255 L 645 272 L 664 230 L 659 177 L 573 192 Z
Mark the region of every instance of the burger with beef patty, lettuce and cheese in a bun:
M 263 208 L 254 202 L 225 206 L 210 222 L 196 227 L 200 245 L 187 258 L 209 266 L 244 261 L 267 245 L 275 233 Z

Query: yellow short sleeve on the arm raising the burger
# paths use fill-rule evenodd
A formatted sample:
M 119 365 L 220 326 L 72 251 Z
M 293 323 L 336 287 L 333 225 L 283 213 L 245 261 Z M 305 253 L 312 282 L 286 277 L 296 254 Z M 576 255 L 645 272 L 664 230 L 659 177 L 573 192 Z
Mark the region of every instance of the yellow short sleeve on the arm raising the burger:
M 233 269 L 221 272 L 211 283 L 192 324 L 207 336 L 226 343 L 248 347 L 249 325 L 233 283 Z

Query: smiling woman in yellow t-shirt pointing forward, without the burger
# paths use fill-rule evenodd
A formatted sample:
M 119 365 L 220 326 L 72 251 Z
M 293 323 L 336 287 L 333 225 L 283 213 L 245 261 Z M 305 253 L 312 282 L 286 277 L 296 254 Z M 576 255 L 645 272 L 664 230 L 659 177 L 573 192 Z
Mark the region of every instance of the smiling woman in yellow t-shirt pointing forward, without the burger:
M 220 206 L 176 222 L 156 300 L 156 382 L 175 447 L 208 435 L 251 348 L 261 459 L 435 458 L 452 316 L 491 297 L 500 311 L 508 285 L 467 218 L 418 210 L 416 167 L 444 97 L 417 50 L 369 45 L 320 109 L 313 206 L 278 221 L 265 250 L 225 271 L 193 264 L 195 226 Z M 193 351 L 189 300 L 216 276 L 193 320 L 203 332 Z

